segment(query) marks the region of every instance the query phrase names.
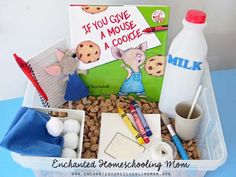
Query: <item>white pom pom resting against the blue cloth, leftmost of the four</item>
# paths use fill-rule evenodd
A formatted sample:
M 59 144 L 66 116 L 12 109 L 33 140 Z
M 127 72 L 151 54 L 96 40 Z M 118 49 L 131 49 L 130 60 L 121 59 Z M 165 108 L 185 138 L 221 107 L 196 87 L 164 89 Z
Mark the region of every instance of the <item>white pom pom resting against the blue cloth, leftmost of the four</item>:
M 63 132 L 63 122 L 56 117 L 51 117 L 51 119 L 46 124 L 46 128 L 50 135 L 54 137 L 60 136 L 60 134 Z

